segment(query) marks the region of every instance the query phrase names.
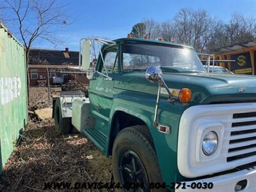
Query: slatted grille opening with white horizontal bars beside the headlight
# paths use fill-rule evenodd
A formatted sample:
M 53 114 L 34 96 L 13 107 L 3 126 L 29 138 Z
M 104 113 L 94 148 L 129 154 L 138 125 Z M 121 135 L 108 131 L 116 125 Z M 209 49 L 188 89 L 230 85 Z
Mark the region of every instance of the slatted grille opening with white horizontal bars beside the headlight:
M 233 121 L 227 162 L 256 157 L 256 112 L 234 113 Z

